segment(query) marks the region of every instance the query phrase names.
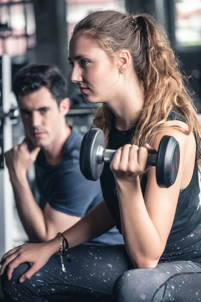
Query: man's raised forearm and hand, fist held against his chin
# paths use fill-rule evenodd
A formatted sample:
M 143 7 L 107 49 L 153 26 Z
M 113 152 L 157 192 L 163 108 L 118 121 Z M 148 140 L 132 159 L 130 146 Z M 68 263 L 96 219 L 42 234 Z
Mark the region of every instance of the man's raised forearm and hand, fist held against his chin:
M 40 147 L 34 146 L 30 150 L 26 138 L 4 155 L 18 214 L 29 240 L 32 242 L 43 241 L 42 238 L 46 234 L 44 214 L 32 194 L 27 179 L 27 170 L 36 161 L 39 151 Z

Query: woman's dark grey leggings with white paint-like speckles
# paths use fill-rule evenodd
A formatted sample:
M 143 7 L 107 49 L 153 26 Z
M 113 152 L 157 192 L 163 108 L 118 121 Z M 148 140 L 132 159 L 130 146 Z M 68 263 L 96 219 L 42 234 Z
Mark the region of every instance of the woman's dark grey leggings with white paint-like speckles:
M 1 276 L 7 301 L 198 302 L 201 301 L 201 225 L 182 240 L 166 246 L 154 269 L 134 269 L 123 245 L 82 245 L 71 249 L 72 262 L 53 255 L 29 280 L 19 277 L 22 264 L 8 281 Z M 190 261 L 191 260 L 191 261 Z

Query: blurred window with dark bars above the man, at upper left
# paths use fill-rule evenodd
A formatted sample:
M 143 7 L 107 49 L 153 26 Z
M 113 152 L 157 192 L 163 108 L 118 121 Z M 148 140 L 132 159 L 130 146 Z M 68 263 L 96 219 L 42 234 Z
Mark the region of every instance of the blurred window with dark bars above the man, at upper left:
M 23 56 L 35 45 L 32 0 L 0 0 L 0 55 Z

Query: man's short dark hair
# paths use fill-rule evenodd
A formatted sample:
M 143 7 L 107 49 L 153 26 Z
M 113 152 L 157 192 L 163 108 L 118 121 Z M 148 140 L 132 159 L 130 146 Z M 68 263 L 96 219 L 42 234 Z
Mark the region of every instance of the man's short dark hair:
M 13 92 L 17 100 L 19 95 L 26 96 L 42 87 L 49 90 L 58 105 L 67 97 L 66 78 L 55 65 L 30 64 L 15 74 Z

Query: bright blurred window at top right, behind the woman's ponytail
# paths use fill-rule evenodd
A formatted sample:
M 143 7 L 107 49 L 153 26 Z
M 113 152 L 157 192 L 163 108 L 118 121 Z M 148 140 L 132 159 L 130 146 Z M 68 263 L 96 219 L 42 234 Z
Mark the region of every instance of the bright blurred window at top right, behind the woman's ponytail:
M 174 0 L 178 46 L 201 45 L 201 0 Z

